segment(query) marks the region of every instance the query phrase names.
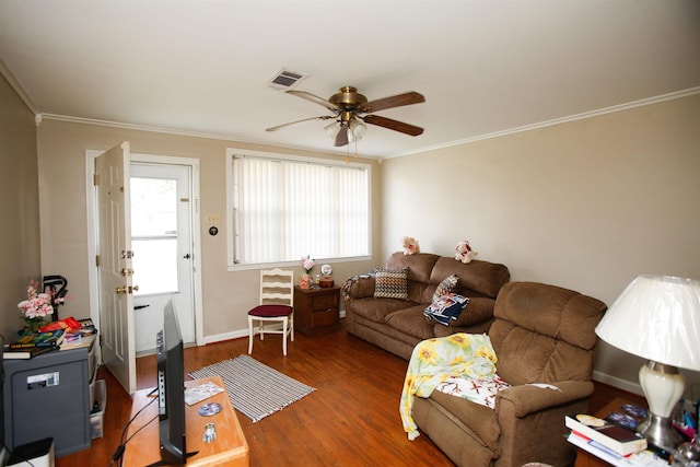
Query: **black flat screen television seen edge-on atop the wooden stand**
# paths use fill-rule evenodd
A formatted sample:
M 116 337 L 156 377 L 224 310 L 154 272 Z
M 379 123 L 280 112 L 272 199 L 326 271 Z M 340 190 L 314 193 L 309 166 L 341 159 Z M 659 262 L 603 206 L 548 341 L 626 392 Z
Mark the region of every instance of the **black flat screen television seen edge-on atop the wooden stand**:
M 172 300 L 165 305 L 163 329 L 158 332 L 155 349 L 161 459 L 163 464 L 183 465 L 187 460 L 185 363 L 183 336 Z

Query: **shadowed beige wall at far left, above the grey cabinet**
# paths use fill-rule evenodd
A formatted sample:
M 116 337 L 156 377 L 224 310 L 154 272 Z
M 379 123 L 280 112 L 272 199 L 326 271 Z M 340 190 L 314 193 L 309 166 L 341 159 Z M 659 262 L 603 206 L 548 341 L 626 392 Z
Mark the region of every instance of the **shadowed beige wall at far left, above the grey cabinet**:
M 0 334 L 23 326 L 18 303 L 39 269 L 39 201 L 34 115 L 0 74 Z

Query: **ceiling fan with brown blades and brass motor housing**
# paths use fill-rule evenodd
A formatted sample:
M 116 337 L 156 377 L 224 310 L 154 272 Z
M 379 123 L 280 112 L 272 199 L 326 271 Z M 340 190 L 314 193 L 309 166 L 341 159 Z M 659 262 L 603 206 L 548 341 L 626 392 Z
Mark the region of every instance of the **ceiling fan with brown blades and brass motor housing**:
M 335 145 L 342 147 L 350 142 L 350 139 L 359 140 L 366 131 L 366 127 L 361 121 L 378 127 L 388 128 L 405 135 L 417 137 L 422 135 L 423 129 L 392 118 L 373 115 L 377 110 L 400 107 L 404 105 L 419 104 L 425 102 L 425 97 L 417 92 L 407 92 L 390 97 L 384 97 L 376 101 L 368 102 L 368 98 L 358 93 L 352 86 L 342 86 L 339 92 L 331 95 L 327 101 L 306 91 L 285 91 L 288 94 L 295 95 L 306 101 L 311 101 L 326 107 L 332 115 L 322 115 L 319 117 L 305 118 L 303 120 L 291 121 L 289 124 L 278 125 L 277 127 L 267 128 L 266 131 L 277 131 L 290 125 L 301 124 L 311 120 L 336 120 L 326 127 L 326 131 L 335 135 Z M 359 121 L 361 120 L 361 121 Z

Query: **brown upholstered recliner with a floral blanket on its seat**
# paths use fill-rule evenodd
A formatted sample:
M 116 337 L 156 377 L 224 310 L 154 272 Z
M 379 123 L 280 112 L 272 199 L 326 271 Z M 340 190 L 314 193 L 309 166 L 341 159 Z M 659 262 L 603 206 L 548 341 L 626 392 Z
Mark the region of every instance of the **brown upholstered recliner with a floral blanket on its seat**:
M 594 329 L 606 310 L 599 300 L 555 285 L 505 284 L 488 334 L 497 373 L 512 387 L 498 394 L 493 410 L 438 390 L 416 397 L 419 430 L 458 466 L 573 465 L 564 416 L 587 409 Z

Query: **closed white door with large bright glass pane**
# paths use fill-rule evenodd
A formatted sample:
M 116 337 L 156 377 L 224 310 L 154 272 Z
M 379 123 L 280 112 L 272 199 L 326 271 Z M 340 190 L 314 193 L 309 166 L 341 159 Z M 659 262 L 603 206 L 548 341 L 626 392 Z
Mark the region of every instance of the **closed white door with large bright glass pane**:
M 195 342 L 190 168 L 131 164 L 131 249 L 137 354 L 153 353 L 172 297 L 185 343 Z

